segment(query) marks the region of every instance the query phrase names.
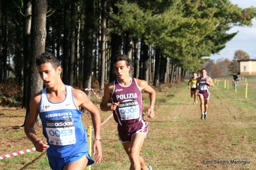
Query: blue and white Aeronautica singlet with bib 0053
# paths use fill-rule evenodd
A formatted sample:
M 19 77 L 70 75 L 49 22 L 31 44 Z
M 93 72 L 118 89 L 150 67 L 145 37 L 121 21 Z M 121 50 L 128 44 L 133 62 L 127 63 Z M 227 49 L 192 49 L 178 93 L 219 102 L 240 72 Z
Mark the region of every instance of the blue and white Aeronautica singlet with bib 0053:
M 47 88 L 41 91 L 39 109 L 43 134 L 49 148 L 47 155 L 63 158 L 88 151 L 87 132 L 81 121 L 81 111 L 73 100 L 73 88 L 65 86 L 62 102 L 53 103 L 47 97 Z

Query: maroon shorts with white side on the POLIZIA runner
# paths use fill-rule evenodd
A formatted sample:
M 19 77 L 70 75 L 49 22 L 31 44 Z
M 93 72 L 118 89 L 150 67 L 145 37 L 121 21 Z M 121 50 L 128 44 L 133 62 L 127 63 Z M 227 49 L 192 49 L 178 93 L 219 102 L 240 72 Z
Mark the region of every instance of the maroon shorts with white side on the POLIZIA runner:
M 142 120 L 132 125 L 126 125 L 126 126 L 118 125 L 117 132 L 118 132 L 119 141 L 121 141 L 121 143 L 131 142 L 132 135 L 137 133 L 142 133 L 142 134 L 148 133 L 148 122 Z

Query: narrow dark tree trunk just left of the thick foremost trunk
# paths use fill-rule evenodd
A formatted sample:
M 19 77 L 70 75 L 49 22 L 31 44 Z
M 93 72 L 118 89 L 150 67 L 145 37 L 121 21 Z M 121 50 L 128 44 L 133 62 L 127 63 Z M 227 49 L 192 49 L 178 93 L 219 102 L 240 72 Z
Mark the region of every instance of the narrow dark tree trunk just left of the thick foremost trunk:
M 23 40 L 24 40 L 24 52 L 23 52 L 23 98 L 22 108 L 26 108 L 26 100 L 28 94 L 28 73 L 30 66 L 30 31 L 31 31 L 31 13 L 32 5 L 31 0 L 24 0 L 24 22 L 23 22 Z

